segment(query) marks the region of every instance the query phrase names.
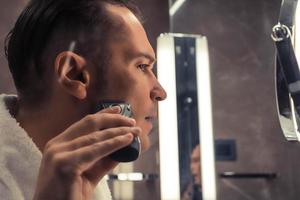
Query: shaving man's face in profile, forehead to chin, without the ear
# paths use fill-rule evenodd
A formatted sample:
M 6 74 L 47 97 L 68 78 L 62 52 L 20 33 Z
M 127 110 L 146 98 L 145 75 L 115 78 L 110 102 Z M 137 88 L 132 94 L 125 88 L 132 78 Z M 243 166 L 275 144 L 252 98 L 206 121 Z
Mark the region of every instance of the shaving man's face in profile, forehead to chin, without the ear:
M 120 20 L 116 34 L 120 39 L 110 42 L 111 58 L 107 67 L 108 80 L 101 100 L 123 100 L 130 103 L 133 118 L 142 128 L 142 150 L 148 149 L 149 133 L 157 117 L 157 102 L 166 93 L 152 72 L 155 53 L 139 20 L 124 7 L 108 5 L 107 9 Z

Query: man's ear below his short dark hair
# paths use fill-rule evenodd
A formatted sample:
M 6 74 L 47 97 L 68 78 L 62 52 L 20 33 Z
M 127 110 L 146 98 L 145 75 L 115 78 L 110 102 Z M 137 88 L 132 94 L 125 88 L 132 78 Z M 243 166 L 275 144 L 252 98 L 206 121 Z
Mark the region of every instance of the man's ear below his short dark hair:
M 87 96 L 90 74 L 83 57 L 71 51 L 61 52 L 55 59 L 55 74 L 59 84 L 78 99 Z

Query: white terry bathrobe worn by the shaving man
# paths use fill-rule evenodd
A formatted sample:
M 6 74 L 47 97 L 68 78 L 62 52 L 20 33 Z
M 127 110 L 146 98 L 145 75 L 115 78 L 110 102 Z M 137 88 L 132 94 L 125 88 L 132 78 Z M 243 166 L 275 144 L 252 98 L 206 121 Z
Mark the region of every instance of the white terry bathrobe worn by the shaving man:
M 32 200 L 42 153 L 10 115 L 0 95 L 0 199 Z M 110 200 L 106 180 L 94 193 L 97 200 Z

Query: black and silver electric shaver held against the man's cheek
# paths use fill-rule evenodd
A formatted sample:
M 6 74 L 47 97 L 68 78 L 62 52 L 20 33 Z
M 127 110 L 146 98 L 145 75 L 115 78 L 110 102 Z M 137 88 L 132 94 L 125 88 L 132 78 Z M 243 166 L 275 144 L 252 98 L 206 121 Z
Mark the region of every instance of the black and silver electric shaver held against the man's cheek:
M 124 103 L 124 102 L 107 102 L 107 103 L 100 103 L 98 107 L 96 108 L 96 111 L 105 109 L 105 108 L 111 108 L 114 106 L 119 106 L 121 109 L 120 114 L 132 117 L 132 110 L 130 104 Z M 119 149 L 112 154 L 109 155 L 109 157 L 117 162 L 131 162 L 136 160 L 141 151 L 141 142 L 139 137 L 134 137 L 132 143 L 126 147 L 123 147 L 122 149 Z

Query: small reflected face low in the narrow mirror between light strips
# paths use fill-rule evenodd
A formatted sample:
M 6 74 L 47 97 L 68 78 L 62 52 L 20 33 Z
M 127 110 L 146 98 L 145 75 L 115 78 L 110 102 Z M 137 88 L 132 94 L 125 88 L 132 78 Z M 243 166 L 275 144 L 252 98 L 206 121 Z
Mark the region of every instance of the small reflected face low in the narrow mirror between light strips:
M 201 186 L 200 146 L 197 145 L 191 155 L 191 172 L 194 183 Z

